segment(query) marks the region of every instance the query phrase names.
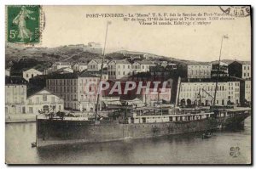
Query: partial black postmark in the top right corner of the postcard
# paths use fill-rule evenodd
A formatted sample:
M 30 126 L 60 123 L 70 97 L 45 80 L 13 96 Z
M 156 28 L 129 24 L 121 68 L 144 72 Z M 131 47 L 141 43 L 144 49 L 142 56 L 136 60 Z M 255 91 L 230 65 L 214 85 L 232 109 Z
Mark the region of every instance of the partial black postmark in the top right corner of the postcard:
M 250 6 L 219 6 L 224 14 L 234 17 L 247 17 L 251 14 Z

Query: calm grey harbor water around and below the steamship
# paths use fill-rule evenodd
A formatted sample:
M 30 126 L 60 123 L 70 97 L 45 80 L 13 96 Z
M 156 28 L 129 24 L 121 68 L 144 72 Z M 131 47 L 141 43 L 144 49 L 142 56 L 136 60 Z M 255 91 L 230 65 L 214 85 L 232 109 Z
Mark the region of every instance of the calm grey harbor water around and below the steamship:
M 8 164 L 248 164 L 251 162 L 251 116 L 244 129 L 97 144 L 32 148 L 36 123 L 5 125 Z

